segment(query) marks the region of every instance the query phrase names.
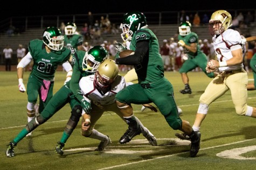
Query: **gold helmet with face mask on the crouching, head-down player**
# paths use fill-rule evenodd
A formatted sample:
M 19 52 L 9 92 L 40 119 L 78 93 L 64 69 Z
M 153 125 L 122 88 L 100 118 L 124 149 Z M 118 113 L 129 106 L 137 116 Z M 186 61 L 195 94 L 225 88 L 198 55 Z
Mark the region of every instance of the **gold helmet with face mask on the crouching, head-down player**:
M 103 61 L 94 75 L 94 85 L 98 90 L 105 91 L 115 81 L 119 67 L 113 60 Z

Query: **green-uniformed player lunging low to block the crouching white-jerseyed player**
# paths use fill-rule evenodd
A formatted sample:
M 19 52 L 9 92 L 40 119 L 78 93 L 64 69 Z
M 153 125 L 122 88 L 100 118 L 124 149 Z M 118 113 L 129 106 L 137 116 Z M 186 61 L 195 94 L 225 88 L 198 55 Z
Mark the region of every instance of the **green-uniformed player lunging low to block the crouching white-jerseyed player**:
M 81 50 L 75 52 L 73 54 L 75 60 L 73 60 L 74 70 L 71 80 L 53 95 L 43 112 L 27 123 L 26 127 L 19 132 L 17 137 L 8 144 L 6 156 L 14 157 L 14 149 L 17 143 L 36 129 L 38 125 L 49 120 L 59 109 L 63 108 L 69 102 L 72 109 L 71 117 L 70 120 L 68 120 L 67 128 L 65 128 L 64 132 L 65 135 L 63 136 L 63 138 L 67 140 L 79 122 L 82 109 L 85 109 L 85 111 L 89 113 L 89 109 L 91 108 L 91 105 L 87 104 L 86 101 L 82 104 L 80 103 L 80 100 L 84 98 L 79 93 L 79 80 L 84 76 L 92 75 L 98 69 L 100 62 L 105 60 L 107 56 L 107 50 L 101 46 L 94 46 L 88 52 Z M 79 100 L 77 98 L 79 98 Z

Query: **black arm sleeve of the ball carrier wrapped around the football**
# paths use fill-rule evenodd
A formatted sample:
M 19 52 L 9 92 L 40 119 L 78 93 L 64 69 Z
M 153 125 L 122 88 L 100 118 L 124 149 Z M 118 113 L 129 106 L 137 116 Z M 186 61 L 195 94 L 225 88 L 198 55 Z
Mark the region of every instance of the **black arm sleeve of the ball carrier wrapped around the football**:
M 136 43 L 135 53 L 123 58 L 116 58 L 115 62 L 117 64 L 125 65 L 137 65 L 143 61 L 143 58 L 148 53 L 149 41 L 139 41 Z

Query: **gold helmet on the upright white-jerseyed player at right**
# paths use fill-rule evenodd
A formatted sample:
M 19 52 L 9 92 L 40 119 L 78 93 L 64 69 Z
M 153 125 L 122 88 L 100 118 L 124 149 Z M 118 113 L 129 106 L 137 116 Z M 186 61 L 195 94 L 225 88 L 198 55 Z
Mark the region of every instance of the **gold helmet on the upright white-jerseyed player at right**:
M 218 35 L 223 33 L 232 26 L 231 14 L 225 10 L 218 10 L 212 13 L 209 20 L 209 31 L 211 35 Z

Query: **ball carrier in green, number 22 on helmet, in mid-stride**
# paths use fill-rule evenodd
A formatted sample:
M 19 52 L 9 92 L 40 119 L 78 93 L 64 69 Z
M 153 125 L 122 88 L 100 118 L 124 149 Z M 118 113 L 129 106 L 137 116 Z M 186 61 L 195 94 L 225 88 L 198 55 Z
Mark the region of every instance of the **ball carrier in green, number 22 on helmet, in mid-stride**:
M 159 53 L 158 40 L 148 28 L 146 17 L 141 12 L 128 12 L 124 14 L 120 28 L 122 28 L 123 41 L 131 41 L 130 49 L 135 53 L 116 58 L 115 62 L 134 65 L 139 83 L 129 85 L 116 94 L 117 106 L 121 109 L 129 126 L 119 142 L 127 143 L 141 133 L 131 104 L 153 102 L 172 129 L 181 130 L 190 136 L 190 156 L 195 157 L 200 147 L 200 133 L 193 131 L 189 122 L 182 120 L 178 115 L 172 84 L 164 77 L 164 65 Z

